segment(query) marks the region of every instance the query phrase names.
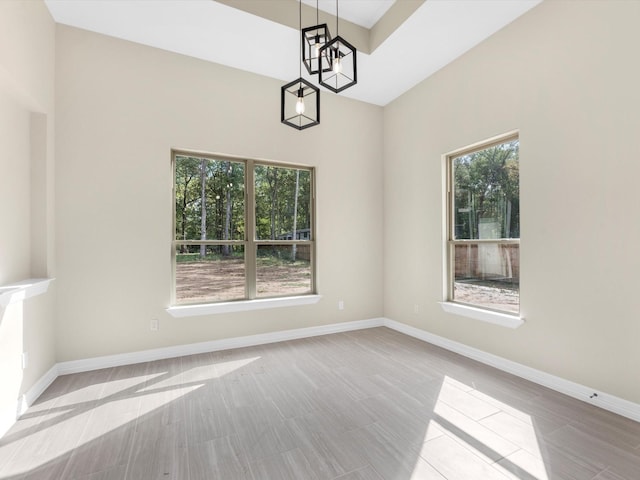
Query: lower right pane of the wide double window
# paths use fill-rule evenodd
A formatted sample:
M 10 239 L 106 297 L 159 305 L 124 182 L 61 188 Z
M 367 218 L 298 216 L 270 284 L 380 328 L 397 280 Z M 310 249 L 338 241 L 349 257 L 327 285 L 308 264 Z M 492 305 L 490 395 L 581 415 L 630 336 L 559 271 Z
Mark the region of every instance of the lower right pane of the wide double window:
M 257 296 L 277 297 L 311 292 L 311 245 L 259 245 Z

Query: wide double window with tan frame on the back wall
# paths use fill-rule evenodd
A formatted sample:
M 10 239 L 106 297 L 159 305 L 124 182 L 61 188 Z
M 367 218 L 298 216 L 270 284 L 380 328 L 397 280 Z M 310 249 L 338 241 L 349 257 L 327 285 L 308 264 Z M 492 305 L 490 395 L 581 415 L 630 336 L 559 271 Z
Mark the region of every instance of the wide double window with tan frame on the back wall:
M 173 153 L 174 301 L 311 294 L 313 169 Z

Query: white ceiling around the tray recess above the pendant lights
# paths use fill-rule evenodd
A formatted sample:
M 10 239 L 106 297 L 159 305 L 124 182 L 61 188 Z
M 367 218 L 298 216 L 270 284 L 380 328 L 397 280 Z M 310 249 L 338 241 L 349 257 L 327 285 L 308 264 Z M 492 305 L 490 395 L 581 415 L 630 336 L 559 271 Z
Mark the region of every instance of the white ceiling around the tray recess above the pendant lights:
M 213 0 L 45 0 L 58 23 L 289 82 L 299 77 L 299 31 Z M 256 0 L 253 0 L 254 2 Z M 265 8 L 297 2 L 259 0 Z M 365 29 L 407 0 L 341 0 L 343 19 Z M 426 0 L 371 52 L 358 52 L 358 84 L 340 95 L 386 105 L 542 0 Z M 238 5 L 250 0 L 237 0 Z M 315 9 L 315 0 L 303 0 Z M 334 0 L 318 0 L 335 14 Z M 269 6 L 271 8 L 271 6 Z M 293 12 L 297 14 L 297 10 Z M 296 15 L 297 19 L 297 15 Z M 307 26 L 307 25 L 303 25 Z M 373 30 L 372 30 L 373 31 Z M 341 36 L 349 40 L 340 30 Z M 303 76 L 309 77 L 303 70 Z M 317 83 L 317 82 L 316 82 Z

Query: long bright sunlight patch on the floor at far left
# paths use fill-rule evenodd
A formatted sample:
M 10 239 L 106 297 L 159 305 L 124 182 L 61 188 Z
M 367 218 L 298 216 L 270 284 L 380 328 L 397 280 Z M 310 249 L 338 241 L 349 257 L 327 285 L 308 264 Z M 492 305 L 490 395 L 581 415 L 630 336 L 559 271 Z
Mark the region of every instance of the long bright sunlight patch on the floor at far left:
M 164 371 L 116 378 L 61 395 L 55 398 L 51 409 L 39 412 L 41 420 L 37 429 L 26 434 L 29 443 L 39 445 L 38 455 L 23 456 L 18 452 L 12 460 L 11 471 L 3 471 L 3 474 L 20 475 L 33 471 L 74 449 L 99 451 L 124 445 L 132 425 L 144 421 L 146 416 L 204 387 L 207 380 L 224 377 L 258 359 L 260 357 L 208 363 L 175 375 Z M 116 370 L 114 375 L 117 377 L 123 372 Z M 78 425 L 85 425 L 82 432 L 78 432 Z M 52 435 L 60 441 L 50 442 Z M 114 436 L 122 436 L 121 442 L 114 443 Z

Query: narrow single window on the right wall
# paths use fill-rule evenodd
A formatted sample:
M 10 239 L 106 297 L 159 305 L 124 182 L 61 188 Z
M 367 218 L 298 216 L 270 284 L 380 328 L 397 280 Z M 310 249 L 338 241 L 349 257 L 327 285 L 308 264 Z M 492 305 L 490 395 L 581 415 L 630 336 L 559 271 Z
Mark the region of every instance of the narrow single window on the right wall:
M 519 313 L 518 156 L 513 135 L 447 156 L 450 302 Z

